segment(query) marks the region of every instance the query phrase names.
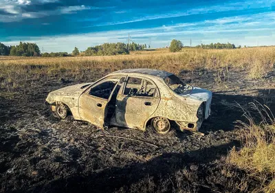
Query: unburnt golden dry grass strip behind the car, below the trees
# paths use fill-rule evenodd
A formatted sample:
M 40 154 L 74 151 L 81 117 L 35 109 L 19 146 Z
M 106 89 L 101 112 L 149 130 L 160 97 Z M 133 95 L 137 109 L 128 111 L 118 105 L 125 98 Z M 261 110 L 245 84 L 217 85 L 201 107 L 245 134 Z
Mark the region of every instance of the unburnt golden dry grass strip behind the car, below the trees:
M 273 68 L 275 47 L 243 49 L 183 49 L 169 53 L 168 49 L 133 52 L 123 56 L 80 56 L 62 58 L 0 57 L 1 88 L 26 87 L 36 80 L 68 76 L 100 78 L 111 71 L 126 68 L 162 69 L 179 74 L 182 70 L 208 69 L 219 76 L 228 68 L 249 71 L 250 78 L 262 78 Z M 91 77 L 91 74 L 93 75 Z

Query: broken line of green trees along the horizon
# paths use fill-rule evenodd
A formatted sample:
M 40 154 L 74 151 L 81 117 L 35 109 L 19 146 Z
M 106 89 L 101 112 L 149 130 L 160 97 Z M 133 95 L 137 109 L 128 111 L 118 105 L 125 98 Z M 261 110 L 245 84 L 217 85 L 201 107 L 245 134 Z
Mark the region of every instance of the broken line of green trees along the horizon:
M 170 52 L 179 52 L 184 45 L 181 41 L 173 39 L 170 43 Z M 231 43 L 210 43 L 206 45 L 197 45 L 198 48 L 203 49 L 236 49 L 236 46 Z M 148 45 L 150 48 L 150 45 Z M 241 48 L 239 46 L 238 48 Z M 94 47 L 88 47 L 84 54 L 85 56 L 112 56 L 119 54 L 129 54 L 131 51 L 138 51 L 147 49 L 146 44 L 138 44 L 138 43 L 104 43 L 102 45 L 96 45 Z M 0 43 L 0 56 L 43 56 L 43 57 L 63 57 L 63 56 L 78 56 L 80 55 L 79 49 L 74 47 L 72 54 L 68 54 L 67 52 L 51 52 L 51 53 L 43 53 L 36 45 L 36 43 L 22 43 L 19 45 L 6 46 L 3 43 Z

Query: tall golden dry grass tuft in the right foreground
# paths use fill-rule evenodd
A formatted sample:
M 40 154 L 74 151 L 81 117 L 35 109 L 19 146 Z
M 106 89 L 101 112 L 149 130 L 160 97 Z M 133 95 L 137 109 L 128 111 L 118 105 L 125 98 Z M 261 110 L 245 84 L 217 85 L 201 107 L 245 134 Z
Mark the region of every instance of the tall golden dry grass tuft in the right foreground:
M 243 146 L 241 150 L 233 148 L 228 161 L 234 166 L 246 170 L 262 182 L 262 187 L 254 192 L 275 192 L 275 119 L 267 106 L 252 103 L 252 108 L 261 116 L 262 122 L 256 124 L 249 111 L 244 115 L 249 124 L 240 122 Z

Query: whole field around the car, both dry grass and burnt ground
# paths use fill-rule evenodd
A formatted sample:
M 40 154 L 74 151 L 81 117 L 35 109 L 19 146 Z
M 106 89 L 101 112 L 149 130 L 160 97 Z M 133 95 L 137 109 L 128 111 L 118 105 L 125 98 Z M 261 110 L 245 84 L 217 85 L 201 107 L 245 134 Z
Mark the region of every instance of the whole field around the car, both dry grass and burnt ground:
M 274 64 L 275 47 L 0 56 L 0 192 L 275 192 Z M 212 91 L 206 135 L 103 131 L 44 106 L 50 91 L 127 68 L 170 71 Z

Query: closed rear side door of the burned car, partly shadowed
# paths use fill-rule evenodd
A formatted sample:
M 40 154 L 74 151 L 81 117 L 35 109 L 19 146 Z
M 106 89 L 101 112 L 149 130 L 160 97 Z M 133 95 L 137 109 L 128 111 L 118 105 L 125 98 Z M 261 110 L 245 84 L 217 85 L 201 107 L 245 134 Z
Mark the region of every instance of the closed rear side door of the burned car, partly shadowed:
M 159 90 L 151 80 L 130 76 L 118 93 L 115 122 L 118 126 L 144 128 L 159 104 Z

